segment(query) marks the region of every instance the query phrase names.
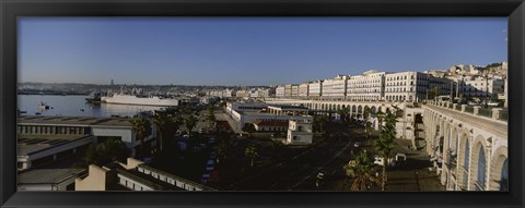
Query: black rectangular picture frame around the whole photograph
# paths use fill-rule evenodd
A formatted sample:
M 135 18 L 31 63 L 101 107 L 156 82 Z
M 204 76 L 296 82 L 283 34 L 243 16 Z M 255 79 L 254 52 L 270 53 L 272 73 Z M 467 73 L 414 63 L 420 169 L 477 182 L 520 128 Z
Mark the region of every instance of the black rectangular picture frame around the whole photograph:
M 510 192 L 16 192 L 19 16 L 508 16 Z M 2 207 L 524 207 L 523 0 L 1 0 Z

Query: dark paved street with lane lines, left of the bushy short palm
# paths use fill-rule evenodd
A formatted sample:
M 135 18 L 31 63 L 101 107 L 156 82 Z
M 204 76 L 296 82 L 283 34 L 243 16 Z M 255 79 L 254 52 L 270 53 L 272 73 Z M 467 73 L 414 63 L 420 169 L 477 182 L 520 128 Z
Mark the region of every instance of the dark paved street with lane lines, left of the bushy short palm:
M 335 191 L 345 180 L 342 166 L 350 160 L 358 131 L 354 124 L 334 123 L 326 143 L 296 156 L 249 180 L 242 181 L 232 189 L 247 191 L 316 191 L 315 181 L 319 170 L 325 172 L 325 183 L 319 189 Z

